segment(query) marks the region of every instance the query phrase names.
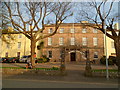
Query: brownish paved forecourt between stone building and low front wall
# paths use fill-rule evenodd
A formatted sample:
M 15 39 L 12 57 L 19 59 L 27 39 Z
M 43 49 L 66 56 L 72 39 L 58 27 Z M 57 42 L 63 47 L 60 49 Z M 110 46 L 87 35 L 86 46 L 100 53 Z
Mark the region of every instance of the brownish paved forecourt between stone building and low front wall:
M 82 63 L 66 63 L 66 70 L 85 70 L 85 62 Z M 2 63 L 2 67 L 25 67 L 25 63 Z M 50 63 L 39 63 L 36 64 L 36 67 L 39 68 L 51 68 L 51 67 L 60 67 L 60 62 L 50 62 Z M 92 69 L 106 69 L 105 65 L 92 64 Z M 111 65 L 109 69 L 117 69 L 116 65 Z

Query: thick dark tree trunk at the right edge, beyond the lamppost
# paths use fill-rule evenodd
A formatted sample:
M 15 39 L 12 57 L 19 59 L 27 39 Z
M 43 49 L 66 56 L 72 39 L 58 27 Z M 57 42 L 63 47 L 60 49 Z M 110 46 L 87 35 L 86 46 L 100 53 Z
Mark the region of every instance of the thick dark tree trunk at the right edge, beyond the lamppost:
M 118 75 L 120 75 L 120 38 L 117 37 L 114 40 L 116 57 L 117 57 L 117 65 L 118 65 Z

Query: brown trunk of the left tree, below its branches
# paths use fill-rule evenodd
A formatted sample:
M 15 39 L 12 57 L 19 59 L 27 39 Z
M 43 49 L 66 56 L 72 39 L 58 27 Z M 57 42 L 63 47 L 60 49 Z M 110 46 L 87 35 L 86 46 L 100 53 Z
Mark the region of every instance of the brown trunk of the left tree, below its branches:
M 32 64 L 32 67 L 35 66 L 35 47 L 36 47 L 36 42 L 34 39 L 31 39 L 31 64 Z

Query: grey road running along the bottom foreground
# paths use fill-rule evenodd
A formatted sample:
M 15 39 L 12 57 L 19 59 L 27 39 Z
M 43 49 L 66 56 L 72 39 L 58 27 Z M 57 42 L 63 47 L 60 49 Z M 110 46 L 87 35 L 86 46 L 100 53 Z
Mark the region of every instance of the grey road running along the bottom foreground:
M 3 79 L 2 88 L 118 88 L 114 83 Z

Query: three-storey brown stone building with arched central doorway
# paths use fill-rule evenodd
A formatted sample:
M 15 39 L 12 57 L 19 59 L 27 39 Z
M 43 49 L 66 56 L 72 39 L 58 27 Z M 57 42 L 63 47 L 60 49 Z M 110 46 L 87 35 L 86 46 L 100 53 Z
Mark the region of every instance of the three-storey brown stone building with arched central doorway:
M 53 31 L 54 25 L 48 25 L 44 34 Z M 104 54 L 102 32 L 81 23 L 62 23 L 54 36 L 44 39 L 42 54 L 51 61 L 60 61 L 64 54 L 66 62 L 80 62 L 86 60 L 86 50 L 89 50 L 90 60 L 99 61 Z

